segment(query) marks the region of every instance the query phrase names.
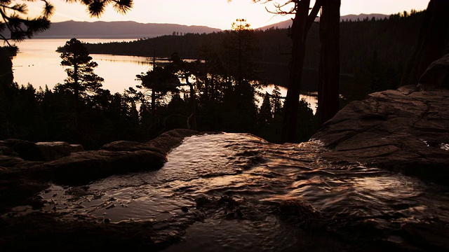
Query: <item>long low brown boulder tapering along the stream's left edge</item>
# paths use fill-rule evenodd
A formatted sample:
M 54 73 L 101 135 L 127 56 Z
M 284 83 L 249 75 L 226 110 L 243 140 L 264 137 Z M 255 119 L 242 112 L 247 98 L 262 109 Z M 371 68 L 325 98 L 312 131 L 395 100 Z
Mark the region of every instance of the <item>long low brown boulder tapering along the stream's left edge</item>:
M 28 173 L 63 184 L 83 184 L 113 174 L 159 169 L 167 153 L 194 130 L 171 130 L 146 143 L 116 141 L 99 151 L 72 152 L 57 160 L 29 167 Z

